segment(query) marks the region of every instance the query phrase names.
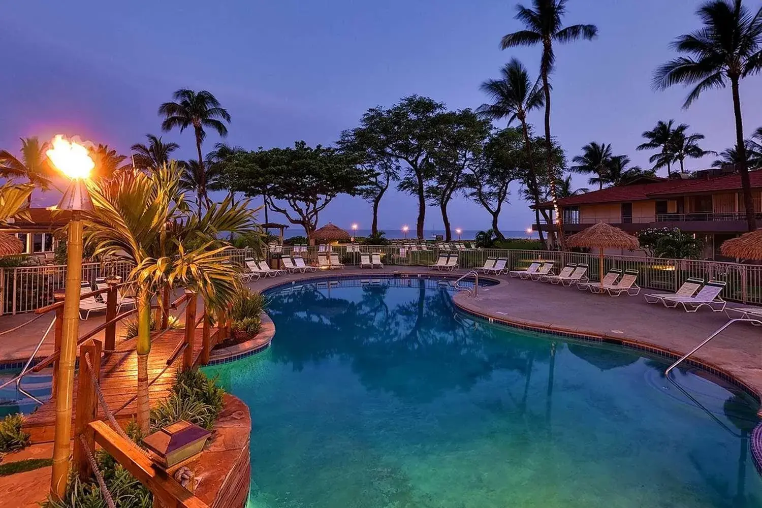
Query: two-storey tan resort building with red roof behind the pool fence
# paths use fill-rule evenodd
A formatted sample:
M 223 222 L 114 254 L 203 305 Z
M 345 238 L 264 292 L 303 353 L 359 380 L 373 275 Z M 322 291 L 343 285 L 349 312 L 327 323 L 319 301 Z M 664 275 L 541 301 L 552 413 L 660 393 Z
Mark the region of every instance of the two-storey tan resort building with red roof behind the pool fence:
M 559 200 L 564 231 L 579 232 L 607 222 L 627 232 L 645 228 L 680 228 L 703 238 L 705 257 L 724 260 L 719 246 L 748 231 L 741 193 L 741 176 L 722 170 L 699 171 L 687 177 L 641 177 L 629 184 Z M 757 223 L 762 227 L 762 171 L 749 174 Z M 540 205 L 552 212 L 552 203 Z M 537 225 L 533 225 L 536 229 Z M 540 225 L 543 231 L 555 224 Z

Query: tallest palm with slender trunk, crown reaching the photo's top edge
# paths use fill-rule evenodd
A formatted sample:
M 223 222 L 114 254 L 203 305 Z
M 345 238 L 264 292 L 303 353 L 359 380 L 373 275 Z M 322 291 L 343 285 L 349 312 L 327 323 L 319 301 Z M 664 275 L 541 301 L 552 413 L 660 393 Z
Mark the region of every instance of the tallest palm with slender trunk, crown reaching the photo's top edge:
M 550 139 L 550 82 L 548 76 L 555 64 L 553 53 L 553 41 L 556 43 L 569 43 L 575 40 L 592 40 L 598 33 L 597 27 L 592 24 L 575 24 L 570 27 L 562 25 L 562 18 L 566 12 L 566 0 L 532 0 L 533 8 L 517 5 L 516 19 L 524 25 L 524 30 L 505 35 L 500 41 L 501 49 L 516 46 L 543 45 L 543 57 L 540 60 L 539 73 L 543 79 L 543 93 L 545 95 L 545 147 L 546 164 L 550 185 L 550 193 L 555 211 L 555 219 L 559 225 L 559 241 L 561 248 L 566 248 L 563 234 L 563 217 L 559 214 L 559 207 L 555 195 L 555 174 L 552 162 L 552 140 Z

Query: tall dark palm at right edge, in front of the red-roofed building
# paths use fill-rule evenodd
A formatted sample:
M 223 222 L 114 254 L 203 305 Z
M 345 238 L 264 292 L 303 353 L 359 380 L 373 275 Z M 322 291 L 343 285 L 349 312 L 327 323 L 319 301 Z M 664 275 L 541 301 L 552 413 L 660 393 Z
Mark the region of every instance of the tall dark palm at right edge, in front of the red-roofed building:
M 746 165 L 744 125 L 741 119 L 741 78 L 760 69 L 762 54 L 762 8 L 752 13 L 741 0 L 711 0 L 696 11 L 703 27 L 681 35 L 672 43 L 680 56 L 656 69 L 655 88 L 663 90 L 678 83 L 695 85 L 683 107 L 690 107 L 700 94 L 712 88 L 725 88 L 730 82 L 735 114 L 735 145 L 738 151 L 738 171 L 746 207 L 749 231 L 757 228 L 754 202 Z

